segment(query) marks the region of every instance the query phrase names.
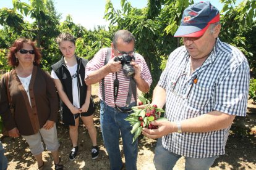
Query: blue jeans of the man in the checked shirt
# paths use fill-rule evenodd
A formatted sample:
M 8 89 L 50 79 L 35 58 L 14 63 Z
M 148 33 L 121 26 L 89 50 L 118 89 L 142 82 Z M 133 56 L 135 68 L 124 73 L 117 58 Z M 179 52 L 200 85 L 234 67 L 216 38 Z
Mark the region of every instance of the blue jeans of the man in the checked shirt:
M 173 152 L 169 152 L 166 148 L 162 145 L 162 139 L 158 139 L 156 148 L 155 148 L 155 157 L 154 157 L 154 164 L 155 168 L 158 169 L 173 169 L 177 160 L 181 158 L 181 155 L 177 155 Z M 218 156 L 213 156 L 210 158 L 189 158 L 185 157 L 185 169 L 209 169 L 214 161 L 218 158 Z

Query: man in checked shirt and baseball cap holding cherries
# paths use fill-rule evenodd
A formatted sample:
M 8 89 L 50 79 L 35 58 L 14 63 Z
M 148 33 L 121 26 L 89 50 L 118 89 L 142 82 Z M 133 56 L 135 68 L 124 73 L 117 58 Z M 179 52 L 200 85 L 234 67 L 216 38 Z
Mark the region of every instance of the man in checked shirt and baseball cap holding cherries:
M 249 65 L 239 49 L 221 42 L 220 12 L 210 2 L 184 10 L 174 34 L 184 46 L 169 55 L 153 93 L 153 104 L 166 105 L 169 121 L 153 121 L 158 129 L 143 134 L 159 138 L 156 169 L 173 169 L 184 156 L 185 169 L 209 169 L 224 155 L 235 116 L 245 116 Z

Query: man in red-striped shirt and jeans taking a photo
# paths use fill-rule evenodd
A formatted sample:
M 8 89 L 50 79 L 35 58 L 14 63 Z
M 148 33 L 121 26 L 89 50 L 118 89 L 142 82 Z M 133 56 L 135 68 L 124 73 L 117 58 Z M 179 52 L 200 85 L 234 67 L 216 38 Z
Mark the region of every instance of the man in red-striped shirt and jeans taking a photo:
M 134 52 L 135 39 L 127 30 L 113 36 L 111 48 L 98 51 L 85 69 L 85 83 L 100 82 L 100 123 L 110 169 L 122 169 L 119 135 L 126 169 L 137 169 L 138 142 L 132 142 L 132 126 L 124 120 L 137 104 L 137 88 L 147 93 L 152 78 L 142 55 Z

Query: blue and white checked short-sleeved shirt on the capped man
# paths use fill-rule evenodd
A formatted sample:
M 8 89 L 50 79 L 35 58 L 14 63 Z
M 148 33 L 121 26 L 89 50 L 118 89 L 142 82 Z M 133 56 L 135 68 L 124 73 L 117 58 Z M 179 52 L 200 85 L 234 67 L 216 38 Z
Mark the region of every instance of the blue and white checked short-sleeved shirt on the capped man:
M 196 75 L 197 84 L 191 87 Z M 217 39 L 202 67 L 191 75 L 189 53 L 186 47 L 179 47 L 169 55 L 158 82 L 158 86 L 166 89 L 165 117 L 169 121 L 178 121 L 213 110 L 245 116 L 249 79 L 249 65 L 242 52 L 220 39 Z M 201 133 L 174 132 L 163 137 L 163 147 L 191 158 L 223 155 L 229 129 Z

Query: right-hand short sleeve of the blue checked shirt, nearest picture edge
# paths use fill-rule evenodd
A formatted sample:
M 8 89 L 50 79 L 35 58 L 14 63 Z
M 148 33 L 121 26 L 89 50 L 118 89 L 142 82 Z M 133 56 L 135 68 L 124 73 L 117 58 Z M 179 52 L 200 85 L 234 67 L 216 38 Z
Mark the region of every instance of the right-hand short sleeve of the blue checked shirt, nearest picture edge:
M 215 92 L 214 110 L 229 115 L 245 116 L 249 92 L 249 65 L 242 62 L 227 70 L 218 81 Z

